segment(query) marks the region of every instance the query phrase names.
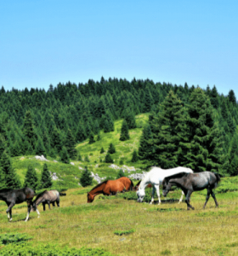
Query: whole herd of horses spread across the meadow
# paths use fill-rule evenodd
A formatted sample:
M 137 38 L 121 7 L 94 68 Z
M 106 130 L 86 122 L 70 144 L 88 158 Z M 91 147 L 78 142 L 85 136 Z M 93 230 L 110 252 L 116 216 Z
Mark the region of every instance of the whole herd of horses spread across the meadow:
M 152 167 L 150 172 L 147 172 L 144 178 L 139 181 L 135 186 L 133 181 L 128 177 L 120 177 L 116 180 L 106 180 L 102 183 L 96 185 L 93 189 L 88 192 L 88 203 L 94 201 L 94 197 L 99 194 L 103 195 L 116 195 L 117 193 L 127 192 L 127 191 L 136 191 L 138 196 L 138 202 L 142 202 L 145 195 L 145 188 L 152 187 L 152 197 L 150 204 L 154 201 L 155 191 L 158 195 L 158 204 L 161 204 L 160 197 L 160 185 L 162 185 L 162 194 L 167 196 L 167 193 L 172 188 L 172 186 L 177 186 L 179 189 L 182 189 L 182 195 L 178 203 L 183 200 L 185 195 L 185 202 L 187 204 L 187 209 L 193 209 L 190 205 L 190 195 L 194 191 L 199 191 L 202 189 L 207 189 L 207 197 L 204 207 L 207 205 L 210 195 L 212 195 L 213 200 L 215 201 L 216 207 L 218 207 L 218 201 L 215 197 L 212 189 L 215 189 L 218 186 L 220 181 L 220 175 L 216 172 L 199 172 L 194 173 L 190 168 L 186 167 L 176 167 L 173 169 L 162 170 L 159 167 Z M 27 203 L 27 215 L 26 221 L 29 218 L 30 212 L 37 211 L 38 218 L 40 212 L 37 209 L 37 206 L 42 204 L 43 210 L 45 211 L 45 205 L 48 204 L 50 209 L 50 204 L 59 207 L 59 195 L 66 195 L 65 193 L 59 193 L 57 190 L 44 190 L 42 193 L 38 194 L 36 199 L 33 201 L 36 193 L 33 189 L 24 188 L 24 189 L 1 189 L 0 190 L 0 200 L 5 201 L 8 205 L 7 214 L 9 221 L 12 220 L 12 207 L 15 204 L 20 204 L 24 201 Z

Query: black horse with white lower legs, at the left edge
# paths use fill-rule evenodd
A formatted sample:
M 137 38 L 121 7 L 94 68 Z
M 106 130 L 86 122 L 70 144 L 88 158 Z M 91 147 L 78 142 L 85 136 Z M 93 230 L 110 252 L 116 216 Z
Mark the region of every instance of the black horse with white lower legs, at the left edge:
M 24 189 L 1 189 L 0 190 L 0 200 L 5 201 L 8 205 L 7 214 L 8 214 L 8 220 L 12 221 L 12 207 L 14 207 L 15 204 L 20 204 L 24 201 L 27 202 L 27 215 L 26 220 L 28 220 L 30 212 L 31 212 L 31 206 L 32 206 L 32 199 L 35 196 L 35 191 L 30 188 L 24 188 Z M 36 211 L 38 214 L 38 218 L 40 217 L 40 212 L 38 211 L 36 207 Z

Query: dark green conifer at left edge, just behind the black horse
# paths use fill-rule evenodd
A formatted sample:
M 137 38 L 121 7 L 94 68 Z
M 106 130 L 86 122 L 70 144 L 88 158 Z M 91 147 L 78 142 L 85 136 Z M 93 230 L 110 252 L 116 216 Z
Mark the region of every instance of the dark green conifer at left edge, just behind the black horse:
M 1 166 L 3 171 L 2 176 L 4 177 L 4 183 L 6 188 L 20 189 L 21 187 L 20 179 L 16 175 L 16 172 L 14 171 L 14 168 L 11 164 L 11 160 L 6 151 L 3 152 L 2 159 L 1 159 Z

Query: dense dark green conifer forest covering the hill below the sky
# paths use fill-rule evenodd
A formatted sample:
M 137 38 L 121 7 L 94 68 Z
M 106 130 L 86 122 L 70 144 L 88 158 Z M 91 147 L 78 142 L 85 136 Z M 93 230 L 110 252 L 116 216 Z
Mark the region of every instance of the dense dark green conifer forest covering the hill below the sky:
M 77 143 L 94 143 L 99 131 L 114 131 L 124 119 L 120 140 L 135 128 L 135 115 L 150 113 L 138 148 L 139 160 L 162 168 L 188 166 L 195 172 L 238 173 L 238 109 L 233 90 L 215 86 L 101 78 L 87 84 L 42 89 L 0 90 L 0 158 L 60 155 L 76 159 Z M 0 175 L 2 175 L 0 173 Z

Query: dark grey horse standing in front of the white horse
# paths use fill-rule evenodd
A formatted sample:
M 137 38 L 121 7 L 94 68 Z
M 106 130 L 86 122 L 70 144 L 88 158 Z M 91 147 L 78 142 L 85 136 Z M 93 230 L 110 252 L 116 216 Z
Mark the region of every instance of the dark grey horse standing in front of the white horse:
M 187 204 L 187 210 L 193 209 L 190 205 L 190 195 L 194 191 L 200 191 L 207 189 L 206 202 L 203 206 L 205 209 L 207 201 L 209 200 L 210 195 L 212 195 L 213 200 L 215 201 L 216 207 L 218 207 L 218 201 L 212 189 L 216 189 L 218 182 L 221 180 L 220 176 L 216 172 L 199 172 L 199 173 L 185 173 L 181 172 L 170 177 L 165 177 L 163 180 L 163 195 L 166 196 L 168 191 L 171 189 L 171 186 L 176 185 L 178 188 L 184 191 L 186 195 L 185 202 Z

